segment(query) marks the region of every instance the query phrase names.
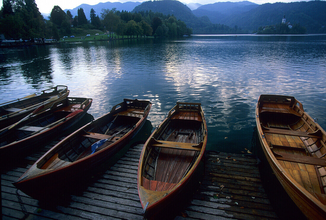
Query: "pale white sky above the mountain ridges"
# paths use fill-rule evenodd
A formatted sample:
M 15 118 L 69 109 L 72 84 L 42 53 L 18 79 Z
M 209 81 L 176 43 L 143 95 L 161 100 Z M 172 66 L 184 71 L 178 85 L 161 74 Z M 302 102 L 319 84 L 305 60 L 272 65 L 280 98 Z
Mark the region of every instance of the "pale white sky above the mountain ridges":
M 88 4 L 88 5 L 96 5 L 100 2 L 143 2 L 143 0 L 35 0 L 37 7 L 41 13 L 50 13 L 53 6 L 58 5 L 63 10 L 64 9 L 72 9 L 75 8 L 81 4 Z M 212 4 L 215 2 L 240 2 L 242 0 L 179 0 L 183 3 L 200 3 L 202 5 L 205 4 Z M 254 2 L 256 4 L 264 4 L 264 3 L 274 3 L 274 2 L 297 2 L 301 0 L 248 0 L 250 2 Z M 2 1 L 0 1 L 0 6 L 2 7 Z

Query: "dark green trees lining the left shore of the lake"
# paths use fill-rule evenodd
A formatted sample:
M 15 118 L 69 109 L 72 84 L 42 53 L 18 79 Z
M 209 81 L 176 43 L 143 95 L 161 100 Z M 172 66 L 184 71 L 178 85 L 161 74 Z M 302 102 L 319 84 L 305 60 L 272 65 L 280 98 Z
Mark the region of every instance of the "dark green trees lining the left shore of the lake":
M 82 8 L 73 16 L 68 10 L 54 6 L 49 20 L 39 12 L 35 0 L 3 0 L 0 10 L 0 34 L 6 38 L 53 38 L 78 33 L 79 30 L 102 30 L 124 37 L 180 37 L 192 34 L 185 22 L 162 13 L 102 9 L 100 16 L 92 8 L 90 21 Z M 112 35 L 113 37 L 113 35 Z

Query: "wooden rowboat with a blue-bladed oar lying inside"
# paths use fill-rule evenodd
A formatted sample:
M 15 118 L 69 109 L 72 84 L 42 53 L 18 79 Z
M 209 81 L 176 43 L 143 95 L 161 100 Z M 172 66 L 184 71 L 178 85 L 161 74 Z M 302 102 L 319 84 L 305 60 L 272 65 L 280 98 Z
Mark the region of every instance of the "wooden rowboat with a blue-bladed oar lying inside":
M 60 141 L 13 184 L 37 199 L 66 192 L 87 170 L 92 171 L 126 146 L 144 125 L 151 106 L 149 101 L 124 99 L 109 113 Z

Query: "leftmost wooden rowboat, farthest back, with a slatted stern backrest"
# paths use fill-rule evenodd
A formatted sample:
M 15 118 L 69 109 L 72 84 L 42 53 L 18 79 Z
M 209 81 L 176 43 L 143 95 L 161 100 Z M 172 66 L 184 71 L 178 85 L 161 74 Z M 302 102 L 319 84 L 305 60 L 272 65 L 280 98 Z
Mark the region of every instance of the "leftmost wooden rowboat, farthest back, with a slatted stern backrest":
M 57 85 L 41 92 L 41 95 L 27 95 L 21 99 L 0 104 L 0 129 L 18 122 L 43 102 L 46 102 L 43 110 L 47 110 L 54 102 L 67 98 L 69 94 L 68 87 L 63 85 Z M 47 102 L 55 96 L 58 96 L 56 100 Z

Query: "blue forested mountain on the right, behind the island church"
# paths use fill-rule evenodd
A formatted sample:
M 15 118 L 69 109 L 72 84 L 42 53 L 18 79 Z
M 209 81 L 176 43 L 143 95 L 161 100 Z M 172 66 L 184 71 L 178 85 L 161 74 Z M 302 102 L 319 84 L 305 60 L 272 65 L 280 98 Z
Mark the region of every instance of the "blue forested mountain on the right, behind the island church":
M 200 9 L 199 7 L 198 9 Z M 197 9 L 197 10 L 198 10 Z M 196 11 L 196 10 L 195 10 Z M 194 11 L 194 13 L 195 13 Z M 326 33 L 326 1 L 266 3 L 242 13 L 226 14 L 219 11 L 196 12 L 198 16 L 207 15 L 213 23 L 237 25 L 242 29 L 254 31 L 260 26 L 278 24 L 285 14 L 287 22 L 306 27 L 309 34 Z M 212 16 L 215 17 L 212 19 Z

